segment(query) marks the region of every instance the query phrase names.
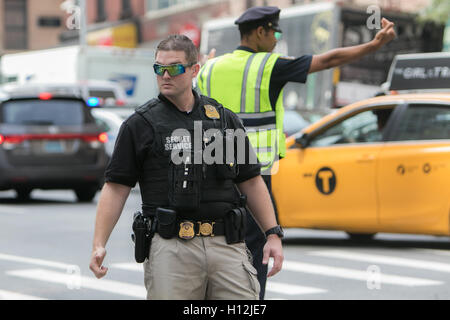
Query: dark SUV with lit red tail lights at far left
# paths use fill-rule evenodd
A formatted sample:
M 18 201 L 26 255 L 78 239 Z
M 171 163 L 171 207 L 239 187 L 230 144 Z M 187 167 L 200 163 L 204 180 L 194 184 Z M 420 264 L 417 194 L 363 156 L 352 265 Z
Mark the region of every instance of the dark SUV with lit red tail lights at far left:
M 73 189 L 91 201 L 107 163 L 102 132 L 85 101 L 70 94 L 8 92 L 0 103 L 0 190 Z

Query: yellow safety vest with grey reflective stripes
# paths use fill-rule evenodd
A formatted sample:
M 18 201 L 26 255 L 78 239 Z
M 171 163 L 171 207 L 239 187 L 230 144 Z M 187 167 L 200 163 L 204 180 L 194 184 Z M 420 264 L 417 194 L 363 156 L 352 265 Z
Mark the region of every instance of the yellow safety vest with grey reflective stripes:
M 203 95 L 217 100 L 242 120 L 262 172 L 271 169 L 277 155 L 283 158 L 286 153 L 283 91 L 275 110 L 269 98 L 270 77 L 279 56 L 235 50 L 208 60 L 197 77 Z

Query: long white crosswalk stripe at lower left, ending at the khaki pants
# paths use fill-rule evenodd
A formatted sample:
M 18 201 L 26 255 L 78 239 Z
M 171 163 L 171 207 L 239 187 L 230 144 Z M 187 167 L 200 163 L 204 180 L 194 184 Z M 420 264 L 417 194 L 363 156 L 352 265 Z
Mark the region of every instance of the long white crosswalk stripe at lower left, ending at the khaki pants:
M 20 278 L 65 284 L 68 288 L 72 286 L 74 289 L 92 289 L 140 299 L 145 299 L 147 295 L 143 285 L 139 286 L 114 280 L 84 277 L 81 275 L 76 276 L 44 269 L 12 270 L 7 271 L 6 274 Z

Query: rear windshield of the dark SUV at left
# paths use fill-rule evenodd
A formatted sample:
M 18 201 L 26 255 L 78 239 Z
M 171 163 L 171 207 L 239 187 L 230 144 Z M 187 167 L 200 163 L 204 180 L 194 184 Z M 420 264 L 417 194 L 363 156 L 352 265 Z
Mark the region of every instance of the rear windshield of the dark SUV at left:
M 83 124 L 83 103 L 78 100 L 15 100 L 3 104 L 3 123 L 20 125 Z

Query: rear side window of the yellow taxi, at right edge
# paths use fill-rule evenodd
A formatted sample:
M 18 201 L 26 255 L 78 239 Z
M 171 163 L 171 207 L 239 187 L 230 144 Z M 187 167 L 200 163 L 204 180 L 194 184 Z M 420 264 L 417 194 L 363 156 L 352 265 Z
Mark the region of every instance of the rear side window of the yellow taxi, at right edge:
M 413 104 L 405 110 L 393 140 L 450 139 L 450 106 Z

